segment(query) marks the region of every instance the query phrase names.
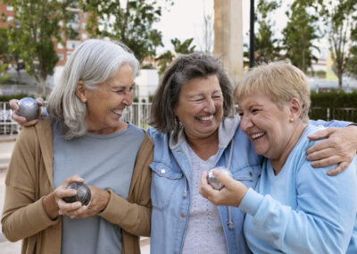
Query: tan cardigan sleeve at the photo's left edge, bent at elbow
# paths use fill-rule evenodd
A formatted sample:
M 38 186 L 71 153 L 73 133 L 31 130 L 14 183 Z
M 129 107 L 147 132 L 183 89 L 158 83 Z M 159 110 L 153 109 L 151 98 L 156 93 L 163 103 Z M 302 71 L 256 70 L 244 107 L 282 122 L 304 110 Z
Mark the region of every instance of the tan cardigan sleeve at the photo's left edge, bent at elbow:
M 24 128 L 18 136 L 5 178 L 4 236 L 18 241 L 58 223 L 51 220 L 37 199 L 38 166 L 41 153 L 35 127 Z

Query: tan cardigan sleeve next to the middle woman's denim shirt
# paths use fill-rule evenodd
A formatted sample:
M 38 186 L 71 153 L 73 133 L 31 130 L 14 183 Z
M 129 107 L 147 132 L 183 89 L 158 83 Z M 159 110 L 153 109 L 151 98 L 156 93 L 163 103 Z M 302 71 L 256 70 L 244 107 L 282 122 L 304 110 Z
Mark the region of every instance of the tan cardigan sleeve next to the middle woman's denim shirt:
M 151 169 L 153 160 L 153 141 L 145 134 L 137 156 L 137 163 L 131 179 L 128 200 L 121 198 L 112 190 L 107 206 L 99 216 L 112 224 L 118 224 L 128 233 L 149 236 L 151 225 Z

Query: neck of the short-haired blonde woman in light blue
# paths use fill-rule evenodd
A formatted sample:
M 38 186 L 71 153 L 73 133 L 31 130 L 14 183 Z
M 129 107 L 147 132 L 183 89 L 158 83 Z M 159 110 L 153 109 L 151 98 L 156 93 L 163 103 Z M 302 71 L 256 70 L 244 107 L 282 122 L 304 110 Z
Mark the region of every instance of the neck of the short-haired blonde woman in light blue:
M 291 138 L 287 141 L 286 146 L 282 148 L 282 153 L 277 158 L 270 158 L 270 164 L 274 169 L 274 174 L 277 175 L 280 173 L 281 169 L 286 163 L 286 159 L 289 156 L 290 152 L 295 148 L 297 141 L 300 139 L 303 131 L 306 129 L 307 123 L 296 123 L 295 127 L 292 130 Z

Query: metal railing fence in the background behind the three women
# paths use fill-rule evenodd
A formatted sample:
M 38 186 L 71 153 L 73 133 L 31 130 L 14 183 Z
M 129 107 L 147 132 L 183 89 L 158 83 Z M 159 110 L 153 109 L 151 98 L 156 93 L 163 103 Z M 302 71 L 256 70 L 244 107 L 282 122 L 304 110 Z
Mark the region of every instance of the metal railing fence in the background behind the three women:
M 150 103 L 133 103 L 126 108 L 121 120 L 137 125 L 139 128 L 149 127 Z M 0 102 L 0 134 L 13 134 L 21 130 L 21 126 L 12 120 L 12 109 L 7 102 Z M 341 107 L 311 107 L 310 119 L 317 120 L 345 120 L 357 123 L 357 108 Z

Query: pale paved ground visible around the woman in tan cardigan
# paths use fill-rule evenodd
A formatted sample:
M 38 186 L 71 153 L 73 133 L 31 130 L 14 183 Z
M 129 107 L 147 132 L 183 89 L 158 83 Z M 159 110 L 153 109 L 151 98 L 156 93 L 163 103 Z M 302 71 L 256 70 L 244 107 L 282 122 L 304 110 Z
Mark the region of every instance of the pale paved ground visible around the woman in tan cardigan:
M 12 154 L 12 148 L 16 136 L 0 135 L 0 215 L 3 214 L 4 207 L 4 178 L 9 159 Z M 144 237 L 140 241 L 141 253 L 150 253 L 150 239 Z M 16 254 L 21 253 L 21 241 L 10 242 L 4 237 L 0 224 L 0 254 Z

